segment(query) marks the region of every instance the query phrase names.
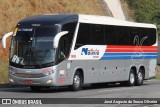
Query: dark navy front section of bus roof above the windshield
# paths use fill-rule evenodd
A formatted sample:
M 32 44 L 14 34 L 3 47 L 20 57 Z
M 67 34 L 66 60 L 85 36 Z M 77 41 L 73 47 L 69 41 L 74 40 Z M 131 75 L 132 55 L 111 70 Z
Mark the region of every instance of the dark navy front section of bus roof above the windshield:
M 64 24 L 67 22 L 78 22 L 77 14 L 43 14 L 23 19 L 18 23 L 19 26 L 51 26 L 54 24 Z

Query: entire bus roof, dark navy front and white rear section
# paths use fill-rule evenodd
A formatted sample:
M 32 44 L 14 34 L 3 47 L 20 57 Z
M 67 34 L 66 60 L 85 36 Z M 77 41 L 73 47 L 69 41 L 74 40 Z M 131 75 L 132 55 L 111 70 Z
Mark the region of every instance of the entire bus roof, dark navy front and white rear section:
M 131 27 L 156 28 L 154 24 L 135 23 L 115 19 L 109 16 L 84 15 L 84 14 L 43 14 L 26 18 L 18 23 L 18 26 L 32 26 L 39 24 L 41 26 L 50 26 L 54 24 L 65 24 L 67 22 L 80 22 L 102 25 L 118 25 Z

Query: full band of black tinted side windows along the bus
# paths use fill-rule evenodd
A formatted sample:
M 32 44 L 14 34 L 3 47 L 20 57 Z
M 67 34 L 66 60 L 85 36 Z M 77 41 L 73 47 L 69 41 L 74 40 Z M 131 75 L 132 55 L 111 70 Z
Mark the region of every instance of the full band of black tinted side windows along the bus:
M 155 41 L 155 29 L 81 23 L 75 49 L 83 45 L 149 46 Z

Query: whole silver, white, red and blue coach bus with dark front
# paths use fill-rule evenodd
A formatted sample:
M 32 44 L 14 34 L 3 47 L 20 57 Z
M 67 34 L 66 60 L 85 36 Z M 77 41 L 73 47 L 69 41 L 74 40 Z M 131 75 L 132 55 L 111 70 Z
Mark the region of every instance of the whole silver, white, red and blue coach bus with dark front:
M 154 78 L 157 29 L 107 16 L 44 14 L 20 21 L 12 34 L 9 81 L 43 87 L 118 82 L 140 86 Z

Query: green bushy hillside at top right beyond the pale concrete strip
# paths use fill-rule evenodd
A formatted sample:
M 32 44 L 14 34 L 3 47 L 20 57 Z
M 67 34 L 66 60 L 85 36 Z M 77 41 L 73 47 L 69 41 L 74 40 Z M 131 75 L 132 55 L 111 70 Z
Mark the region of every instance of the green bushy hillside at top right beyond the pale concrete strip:
M 136 22 L 160 24 L 160 0 L 121 0 L 127 3 Z

